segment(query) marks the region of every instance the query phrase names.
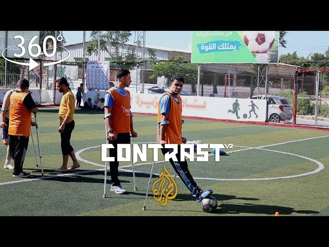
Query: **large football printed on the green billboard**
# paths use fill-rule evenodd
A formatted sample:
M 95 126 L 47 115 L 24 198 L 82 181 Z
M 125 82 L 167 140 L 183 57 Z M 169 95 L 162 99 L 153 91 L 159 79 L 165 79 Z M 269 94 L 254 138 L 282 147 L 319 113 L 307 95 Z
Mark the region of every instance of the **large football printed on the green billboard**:
M 274 44 L 276 31 L 243 31 L 242 36 L 250 51 L 265 53 Z

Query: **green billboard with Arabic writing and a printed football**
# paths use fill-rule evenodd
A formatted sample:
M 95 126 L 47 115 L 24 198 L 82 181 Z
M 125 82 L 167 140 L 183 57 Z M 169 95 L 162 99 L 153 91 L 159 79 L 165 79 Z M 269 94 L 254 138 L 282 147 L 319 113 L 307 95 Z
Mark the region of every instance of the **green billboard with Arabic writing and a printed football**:
M 192 31 L 191 63 L 278 63 L 279 31 Z

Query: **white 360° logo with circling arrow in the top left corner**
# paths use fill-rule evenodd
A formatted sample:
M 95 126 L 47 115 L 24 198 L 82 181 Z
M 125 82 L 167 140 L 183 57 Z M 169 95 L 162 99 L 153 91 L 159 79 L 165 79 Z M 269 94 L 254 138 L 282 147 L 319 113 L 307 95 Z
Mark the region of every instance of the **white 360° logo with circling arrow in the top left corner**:
M 35 40 L 36 38 L 38 38 L 38 36 L 34 36 L 34 37 L 30 40 L 30 42 L 29 42 L 29 44 L 28 44 L 28 54 L 30 55 L 30 60 L 29 60 L 28 63 L 22 63 L 22 62 L 18 62 L 18 61 L 13 61 L 13 60 L 10 60 L 10 59 L 8 59 L 8 58 L 6 58 L 6 57 L 4 56 L 4 51 L 5 51 L 6 49 L 8 49 L 8 48 L 14 46 L 14 45 L 9 46 L 9 47 L 7 47 L 6 49 L 4 49 L 4 50 L 2 51 L 2 54 L 1 54 L 1 55 L 3 56 L 4 59 L 6 59 L 6 60 L 9 61 L 9 62 L 16 63 L 16 64 L 20 64 L 20 65 L 29 66 L 29 70 L 31 70 L 31 69 L 35 68 L 36 66 L 39 66 L 39 64 L 38 64 L 37 62 L 35 62 L 32 58 L 39 57 L 40 54 L 41 54 L 41 47 L 40 47 L 40 45 L 39 45 L 39 44 L 33 44 L 33 42 L 34 42 L 34 40 Z M 25 49 L 25 47 L 23 46 L 23 45 L 24 45 L 24 42 L 25 42 L 25 39 L 24 39 L 23 36 L 20 36 L 20 35 L 16 35 L 16 36 L 14 37 L 14 39 L 20 39 L 20 40 L 21 40 L 20 44 L 17 44 L 17 47 L 19 47 L 19 48 L 21 49 L 21 53 L 20 53 L 20 54 L 16 54 L 16 53 L 15 53 L 15 54 L 14 54 L 14 57 L 16 57 L 16 58 L 21 58 L 21 57 L 24 56 L 24 54 L 25 54 L 25 52 L 26 52 L 26 49 Z M 47 49 L 46 49 L 46 45 L 47 45 L 47 41 L 48 41 L 48 39 L 51 39 L 52 42 L 53 42 L 53 49 L 52 49 L 52 52 L 51 52 L 50 54 L 48 54 L 48 51 L 47 51 Z M 56 54 L 56 50 L 57 50 L 57 41 L 62 41 L 62 40 L 63 40 L 63 37 L 62 37 L 62 36 L 58 36 L 58 37 L 57 37 L 57 40 L 55 39 L 55 37 L 53 37 L 53 36 L 51 36 L 51 35 L 46 36 L 45 39 L 44 39 L 44 41 L 43 41 L 43 44 L 42 44 L 43 54 L 44 54 L 46 57 L 48 57 L 48 58 L 54 56 L 54 55 Z M 33 52 L 32 52 L 32 48 L 33 48 L 33 47 L 35 47 L 36 50 L 37 50 L 37 52 L 36 52 L 35 54 L 33 54 Z M 60 47 L 62 47 L 63 49 L 67 50 L 67 52 L 68 52 L 67 57 L 65 57 L 64 59 L 61 59 L 61 60 L 59 60 L 59 61 L 43 63 L 43 66 L 49 66 L 49 65 L 54 65 L 54 64 L 60 63 L 60 62 L 62 62 L 62 61 L 64 61 L 64 60 L 66 60 L 66 59 L 70 56 L 70 52 L 69 52 L 68 49 L 66 49 L 66 48 L 63 47 L 63 46 L 60 46 Z M 34 49 L 34 50 L 35 50 L 35 49 Z M 32 58 L 31 58 L 31 57 L 32 57 Z

